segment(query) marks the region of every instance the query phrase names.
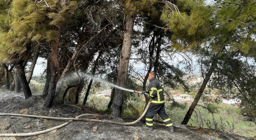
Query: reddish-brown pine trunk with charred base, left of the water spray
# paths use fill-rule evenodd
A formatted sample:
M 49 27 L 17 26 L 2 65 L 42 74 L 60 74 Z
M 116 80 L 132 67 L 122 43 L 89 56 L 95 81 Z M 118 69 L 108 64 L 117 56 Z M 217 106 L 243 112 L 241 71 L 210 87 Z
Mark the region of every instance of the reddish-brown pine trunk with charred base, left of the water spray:
M 58 26 L 55 27 L 56 31 L 59 31 Z M 50 60 L 49 64 L 47 66 L 49 67 L 50 70 L 50 83 L 49 83 L 49 88 L 48 88 L 48 94 L 46 97 L 46 100 L 44 101 L 44 107 L 50 108 L 52 106 L 52 102 L 54 99 L 54 94 L 56 90 L 56 85 L 58 82 L 58 75 L 59 75 L 59 64 L 58 64 L 58 40 L 60 38 L 60 34 L 57 35 L 58 39 L 54 40 L 51 42 L 51 47 L 50 47 Z

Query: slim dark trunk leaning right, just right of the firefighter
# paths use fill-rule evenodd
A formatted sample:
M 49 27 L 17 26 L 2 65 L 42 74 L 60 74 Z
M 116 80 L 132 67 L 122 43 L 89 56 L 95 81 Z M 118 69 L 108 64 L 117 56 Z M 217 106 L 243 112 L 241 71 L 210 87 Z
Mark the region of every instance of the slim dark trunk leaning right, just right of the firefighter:
M 196 97 L 194 99 L 194 101 L 192 102 L 190 108 L 188 109 L 188 112 L 186 114 L 186 116 L 184 117 L 183 121 L 181 122 L 181 124 L 188 124 L 188 121 L 190 120 L 191 118 L 191 115 L 192 113 L 194 112 L 194 109 L 196 108 L 196 105 L 202 95 L 202 93 L 204 92 L 204 88 L 206 87 L 206 84 L 208 83 L 208 81 L 210 80 L 210 77 L 212 75 L 212 72 L 214 71 L 215 67 L 217 66 L 217 62 L 218 62 L 218 59 L 217 57 L 213 60 L 205 78 L 204 78 L 204 81 L 200 87 L 200 89 L 198 90 L 197 94 L 196 94 Z

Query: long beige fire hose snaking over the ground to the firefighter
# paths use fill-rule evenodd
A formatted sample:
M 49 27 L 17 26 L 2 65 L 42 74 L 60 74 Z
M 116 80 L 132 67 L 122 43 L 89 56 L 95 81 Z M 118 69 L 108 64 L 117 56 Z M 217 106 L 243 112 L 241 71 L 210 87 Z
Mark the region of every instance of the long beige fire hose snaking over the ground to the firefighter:
M 134 90 L 135 92 L 135 90 Z M 140 91 L 138 91 L 140 92 Z M 137 91 L 135 93 L 138 93 Z M 139 93 L 138 93 L 139 94 Z M 62 118 L 62 117 L 49 117 L 49 116 L 37 116 L 37 115 L 27 115 L 27 114 L 10 114 L 10 113 L 0 113 L 0 116 L 24 116 L 24 117 L 33 117 L 33 118 L 46 118 L 46 119 L 54 119 L 54 120 L 70 120 L 64 124 L 61 124 L 59 126 L 55 126 L 53 128 L 49 128 L 46 130 L 42 130 L 42 131 L 38 131 L 38 132 L 31 132 L 31 133 L 17 133 L 17 134 L 0 134 L 0 137 L 19 137 L 19 136 L 34 136 L 34 135 L 38 135 L 38 134 L 44 134 L 47 132 L 50 132 L 52 130 L 61 128 L 63 126 L 66 126 L 67 124 L 69 124 L 70 122 L 77 120 L 77 121 L 92 121 L 92 122 L 105 122 L 105 123 L 111 123 L 111 124 L 119 124 L 119 125 L 132 125 L 137 123 L 138 121 L 140 121 L 140 119 L 146 114 L 148 107 L 150 105 L 152 99 L 149 100 L 144 112 L 142 113 L 142 115 L 140 116 L 140 118 L 138 118 L 137 120 L 135 120 L 134 122 L 114 122 L 114 121 L 109 121 L 109 120 L 96 120 L 96 119 L 88 119 L 88 118 L 80 118 L 82 116 L 86 116 L 86 115 L 90 115 L 90 116 L 98 116 L 96 114 L 82 114 L 77 116 L 76 118 Z

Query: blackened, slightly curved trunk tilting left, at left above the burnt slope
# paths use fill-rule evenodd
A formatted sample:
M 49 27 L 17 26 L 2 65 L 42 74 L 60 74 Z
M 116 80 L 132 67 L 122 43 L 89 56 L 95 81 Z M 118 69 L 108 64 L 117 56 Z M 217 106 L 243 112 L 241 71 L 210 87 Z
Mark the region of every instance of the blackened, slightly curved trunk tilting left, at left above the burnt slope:
M 25 99 L 28 99 L 30 96 L 32 96 L 30 87 L 28 86 L 28 81 L 26 80 L 26 75 L 24 72 L 24 66 L 22 65 L 23 62 L 19 62 L 16 66 L 16 71 L 20 80 L 20 84 L 22 86 Z

